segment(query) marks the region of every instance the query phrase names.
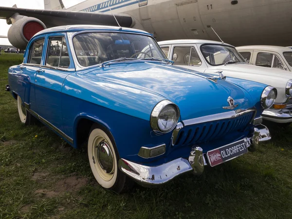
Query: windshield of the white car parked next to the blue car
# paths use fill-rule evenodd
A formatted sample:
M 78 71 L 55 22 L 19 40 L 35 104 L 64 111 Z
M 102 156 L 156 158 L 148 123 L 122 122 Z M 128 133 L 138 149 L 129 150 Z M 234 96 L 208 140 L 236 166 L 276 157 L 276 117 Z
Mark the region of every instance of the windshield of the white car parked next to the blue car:
M 230 46 L 203 45 L 201 51 L 210 65 L 222 65 L 236 62 L 246 62 L 238 51 Z

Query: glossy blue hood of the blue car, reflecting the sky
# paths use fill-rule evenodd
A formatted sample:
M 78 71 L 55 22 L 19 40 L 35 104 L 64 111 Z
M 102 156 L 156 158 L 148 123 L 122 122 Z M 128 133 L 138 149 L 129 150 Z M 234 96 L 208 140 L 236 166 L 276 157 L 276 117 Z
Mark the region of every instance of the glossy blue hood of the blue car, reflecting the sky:
M 251 96 L 239 86 L 221 80 L 215 83 L 206 79 L 204 73 L 184 71 L 183 68 L 159 62 L 128 62 L 98 67 L 85 76 L 91 81 L 106 80 L 159 95 L 178 105 L 182 120 L 230 111 L 222 108 L 229 106 L 229 96 L 238 104 L 236 110 L 254 107 Z M 137 101 L 137 104 L 149 105 L 142 101 Z

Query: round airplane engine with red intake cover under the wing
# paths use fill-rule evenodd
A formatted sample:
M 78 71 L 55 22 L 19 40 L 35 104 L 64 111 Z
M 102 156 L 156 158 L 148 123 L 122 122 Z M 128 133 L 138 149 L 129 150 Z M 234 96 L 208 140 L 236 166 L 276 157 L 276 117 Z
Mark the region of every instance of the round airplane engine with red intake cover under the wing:
M 25 49 L 28 41 L 46 25 L 37 18 L 23 16 L 17 19 L 8 30 L 9 42 L 18 49 Z

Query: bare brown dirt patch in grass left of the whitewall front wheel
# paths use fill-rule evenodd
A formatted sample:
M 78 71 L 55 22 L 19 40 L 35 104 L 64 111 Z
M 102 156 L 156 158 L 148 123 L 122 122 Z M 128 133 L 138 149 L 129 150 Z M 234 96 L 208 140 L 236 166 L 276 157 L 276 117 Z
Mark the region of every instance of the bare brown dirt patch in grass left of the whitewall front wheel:
M 59 180 L 55 183 L 52 189 L 37 189 L 36 196 L 44 198 L 53 198 L 59 196 L 63 192 L 77 192 L 82 186 L 87 183 L 86 178 L 69 177 Z

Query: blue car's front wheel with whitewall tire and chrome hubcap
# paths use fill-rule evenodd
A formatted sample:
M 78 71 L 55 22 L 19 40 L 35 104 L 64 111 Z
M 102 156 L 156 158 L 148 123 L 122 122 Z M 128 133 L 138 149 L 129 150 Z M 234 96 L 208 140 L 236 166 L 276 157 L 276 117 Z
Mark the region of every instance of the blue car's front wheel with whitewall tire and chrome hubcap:
M 117 193 L 131 185 L 130 179 L 118 168 L 118 152 L 114 141 L 100 127 L 93 125 L 88 138 L 88 158 L 96 181 Z

